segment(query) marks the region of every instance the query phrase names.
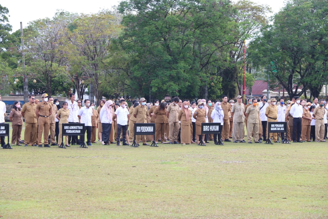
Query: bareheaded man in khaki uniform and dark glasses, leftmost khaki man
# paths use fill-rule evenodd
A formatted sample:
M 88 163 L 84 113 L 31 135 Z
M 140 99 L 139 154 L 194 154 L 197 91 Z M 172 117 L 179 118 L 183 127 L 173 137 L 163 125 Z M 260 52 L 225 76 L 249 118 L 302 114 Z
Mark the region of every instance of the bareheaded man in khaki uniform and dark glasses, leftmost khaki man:
M 36 135 L 38 129 L 37 118 L 35 114 L 36 104 L 34 104 L 35 97 L 33 95 L 29 96 L 29 102 L 22 107 L 22 116 L 25 118 L 25 131 L 24 131 L 24 142 L 25 147 L 28 145 L 36 145 Z M 32 133 L 32 138 L 31 138 Z

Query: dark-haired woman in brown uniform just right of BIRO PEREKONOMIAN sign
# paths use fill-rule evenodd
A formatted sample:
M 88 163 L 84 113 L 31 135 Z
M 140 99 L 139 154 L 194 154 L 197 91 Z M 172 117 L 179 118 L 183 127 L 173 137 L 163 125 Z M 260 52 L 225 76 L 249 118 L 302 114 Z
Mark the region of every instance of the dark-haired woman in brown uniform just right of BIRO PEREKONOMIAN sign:
M 154 109 L 152 118 L 155 120 L 155 142 L 158 142 L 159 137 L 161 137 L 162 144 L 165 141 L 165 118 L 166 116 L 166 104 L 161 103 L 157 108 Z M 167 120 L 169 122 L 169 120 Z

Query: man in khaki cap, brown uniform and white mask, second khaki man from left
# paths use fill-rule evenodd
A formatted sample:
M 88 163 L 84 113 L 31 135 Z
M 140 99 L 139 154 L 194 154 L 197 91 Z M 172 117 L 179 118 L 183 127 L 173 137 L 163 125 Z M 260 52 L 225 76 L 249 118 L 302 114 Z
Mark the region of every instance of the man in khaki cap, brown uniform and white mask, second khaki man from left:
M 49 117 L 52 114 L 52 107 L 48 103 L 49 95 L 44 93 L 42 94 L 42 102 L 36 105 L 35 114 L 39 121 L 39 134 L 38 134 L 38 145 L 39 148 L 42 148 L 42 131 L 44 139 L 44 147 L 50 148 L 48 144 L 48 135 L 49 135 Z

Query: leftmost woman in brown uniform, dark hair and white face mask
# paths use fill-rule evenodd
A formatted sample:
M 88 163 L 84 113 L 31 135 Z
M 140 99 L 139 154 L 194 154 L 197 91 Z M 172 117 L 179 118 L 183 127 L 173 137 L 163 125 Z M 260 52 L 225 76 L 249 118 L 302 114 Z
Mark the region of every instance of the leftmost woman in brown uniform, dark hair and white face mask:
M 16 142 L 16 145 L 21 146 L 19 140 L 22 133 L 23 119 L 19 101 L 14 102 L 14 106 L 10 110 L 9 119 L 12 127 L 11 144 L 14 145 Z

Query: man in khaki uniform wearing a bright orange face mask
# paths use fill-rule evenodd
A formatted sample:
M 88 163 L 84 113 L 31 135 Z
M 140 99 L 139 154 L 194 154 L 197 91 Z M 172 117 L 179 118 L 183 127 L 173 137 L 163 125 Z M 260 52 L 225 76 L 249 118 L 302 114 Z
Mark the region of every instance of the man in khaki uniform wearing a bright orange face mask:
M 247 100 L 249 101 L 249 100 Z M 252 143 L 252 134 L 255 143 L 261 143 L 258 137 L 258 128 L 260 120 L 260 108 L 257 106 L 256 98 L 252 99 L 252 105 L 248 106 L 245 112 L 247 121 L 247 141 Z

